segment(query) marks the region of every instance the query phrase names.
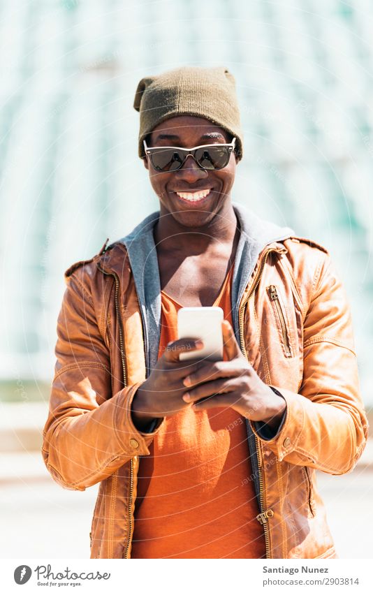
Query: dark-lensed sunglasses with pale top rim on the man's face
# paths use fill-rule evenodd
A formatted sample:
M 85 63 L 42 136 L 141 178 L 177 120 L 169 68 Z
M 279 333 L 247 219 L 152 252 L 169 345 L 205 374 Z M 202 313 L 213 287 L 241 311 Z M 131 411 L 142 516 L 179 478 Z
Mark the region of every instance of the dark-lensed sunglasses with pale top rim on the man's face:
M 152 166 L 157 171 L 177 171 L 181 169 L 186 157 L 191 154 L 198 166 L 207 170 L 224 169 L 228 165 L 231 152 L 235 148 L 235 138 L 230 144 L 203 144 L 194 148 L 181 148 L 180 146 L 147 146 L 145 140 L 145 154 L 149 156 Z

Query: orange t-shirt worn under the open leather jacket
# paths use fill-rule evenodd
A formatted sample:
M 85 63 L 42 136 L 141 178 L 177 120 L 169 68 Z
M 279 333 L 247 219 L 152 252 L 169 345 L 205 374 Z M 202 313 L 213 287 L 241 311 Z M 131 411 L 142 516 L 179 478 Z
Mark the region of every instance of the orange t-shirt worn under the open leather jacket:
M 228 272 L 214 306 L 232 325 Z M 182 305 L 161 292 L 159 357 Z M 166 418 L 140 457 L 132 558 L 263 558 L 244 418 L 230 407 Z

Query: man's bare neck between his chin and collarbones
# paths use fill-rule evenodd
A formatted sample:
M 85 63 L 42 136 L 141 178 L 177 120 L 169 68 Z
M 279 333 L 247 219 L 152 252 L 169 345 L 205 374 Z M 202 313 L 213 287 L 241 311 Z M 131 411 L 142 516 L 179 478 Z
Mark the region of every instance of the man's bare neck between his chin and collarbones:
M 161 205 L 154 240 L 157 250 L 197 255 L 216 248 L 217 244 L 225 247 L 233 244 L 236 231 L 237 218 L 231 200 L 227 200 L 210 223 L 196 227 L 184 226 Z

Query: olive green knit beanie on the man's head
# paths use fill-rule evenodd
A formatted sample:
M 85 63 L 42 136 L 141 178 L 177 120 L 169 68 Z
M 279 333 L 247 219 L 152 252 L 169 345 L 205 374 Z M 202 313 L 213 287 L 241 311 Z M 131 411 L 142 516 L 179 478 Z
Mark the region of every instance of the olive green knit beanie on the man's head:
M 184 66 L 156 76 L 142 78 L 133 107 L 140 112 L 138 154 L 145 156 L 144 140 L 158 124 L 177 115 L 195 115 L 236 137 L 237 159 L 242 159 L 240 110 L 235 79 L 224 68 Z

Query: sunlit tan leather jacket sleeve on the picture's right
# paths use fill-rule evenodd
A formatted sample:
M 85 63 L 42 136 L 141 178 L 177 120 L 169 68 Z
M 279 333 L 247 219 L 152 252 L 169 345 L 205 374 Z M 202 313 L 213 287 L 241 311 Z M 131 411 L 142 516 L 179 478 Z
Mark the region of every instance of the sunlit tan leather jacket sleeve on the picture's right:
M 328 254 L 323 254 L 315 283 L 304 321 L 300 393 L 271 386 L 286 400 L 276 434 L 250 424 L 279 461 L 345 474 L 363 453 L 368 423 L 359 393 L 351 311 Z

